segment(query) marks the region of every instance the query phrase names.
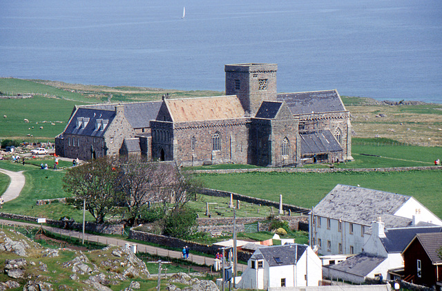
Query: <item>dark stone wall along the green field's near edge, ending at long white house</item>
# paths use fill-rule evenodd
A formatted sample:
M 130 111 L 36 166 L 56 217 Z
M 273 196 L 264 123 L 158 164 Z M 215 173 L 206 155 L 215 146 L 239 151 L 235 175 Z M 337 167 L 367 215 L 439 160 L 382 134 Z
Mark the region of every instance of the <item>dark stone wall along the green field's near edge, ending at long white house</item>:
M 249 197 L 246 195 L 233 193 L 233 192 L 203 188 L 202 190 L 200 190 L 200 194 L 214 196 L 214 197 L 230 197 L 230 194 L 232 194 L 234 200 L 239 200 L 239 201 L 243 201 L 243 202 L 247 202 L 247 203 L 253 203 L 253 204 L 257 204 L 257 205 L 273 206 L 275 208 L 279 208 L 279 202 L 265 200 L 265 199 L 259 199 L 259 198 L 255 198 L 255 197 Z M 282 210 L 285 210 L 287 212 L 302 213 L 302 214 L 307 214 L 310 211 L 309 208 L 302 208 L 302 207 L 298 207 L 298 206 L 290 205 L 290 204 L 285 204 L 285 203 L 282 203 Z

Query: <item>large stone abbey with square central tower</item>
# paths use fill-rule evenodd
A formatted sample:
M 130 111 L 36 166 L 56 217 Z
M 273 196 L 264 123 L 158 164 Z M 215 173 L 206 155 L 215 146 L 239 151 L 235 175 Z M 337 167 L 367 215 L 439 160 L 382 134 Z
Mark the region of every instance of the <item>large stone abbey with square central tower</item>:
M 352 159 L 349 111 L 336 90 L 278 94 L 271 63 L 226 65 L 226 95 L 75 106 L 56 154 L 138 154 L 180 165 L 290 166 Z

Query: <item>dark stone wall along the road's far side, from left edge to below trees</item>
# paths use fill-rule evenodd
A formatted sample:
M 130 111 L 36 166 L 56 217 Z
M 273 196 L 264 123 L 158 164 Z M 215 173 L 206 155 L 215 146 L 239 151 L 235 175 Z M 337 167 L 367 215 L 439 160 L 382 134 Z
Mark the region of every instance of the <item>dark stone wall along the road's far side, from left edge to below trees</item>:
M 23 221 L 37 222 L 37 217 L 28 217 L 26 215 L 12 214 L 12 213 L 4 213 L 0 212 L 0 217 L 6 219 L 17 219 Z M 83 230 L 83 223 L 78 223 L 73 220 L 53 220 L 46 219 L 46 224 L 57 227 L 57 228 L 66 228 L 69 230 Z M 124 225 L 122 224 L 98 224 L 93 222 L 84 223 L 84 229 L 88 232 L 99 232 L 103 234 L 122 234 L 122 230 L 124 229 Z M 35 225 L 38 227 L 38 225 Z

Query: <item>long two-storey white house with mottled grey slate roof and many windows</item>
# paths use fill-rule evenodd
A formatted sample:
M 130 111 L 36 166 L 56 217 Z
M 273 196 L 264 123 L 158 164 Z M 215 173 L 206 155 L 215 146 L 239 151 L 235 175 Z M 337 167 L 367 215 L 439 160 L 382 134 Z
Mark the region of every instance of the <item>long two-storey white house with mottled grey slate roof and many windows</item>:
M 310 212 L 310 243 L 320 254 L 358 254 L 377 217 L 386 228 L 442 225 L 413 197 L 338 184 Z

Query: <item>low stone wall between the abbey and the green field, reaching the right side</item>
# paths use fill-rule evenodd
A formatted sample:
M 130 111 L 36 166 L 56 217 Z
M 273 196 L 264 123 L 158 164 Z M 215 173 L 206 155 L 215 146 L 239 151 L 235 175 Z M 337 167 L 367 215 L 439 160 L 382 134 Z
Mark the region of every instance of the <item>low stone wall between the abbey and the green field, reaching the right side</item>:
M 357 169 L 301 169 L 301 168 L 254 168 L 254 169 L 225 169 L 225 170 L 192 170 L 194 174 L 230 174 L 248 172 L 287 172 L 287 173 L 332 173 L 332 172 L 403 172 L 413 170 L 442 170 L 442 165 L 431 165 L 422 167 L 397 167 L 397 168 L 357 168 Z

